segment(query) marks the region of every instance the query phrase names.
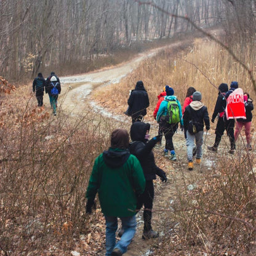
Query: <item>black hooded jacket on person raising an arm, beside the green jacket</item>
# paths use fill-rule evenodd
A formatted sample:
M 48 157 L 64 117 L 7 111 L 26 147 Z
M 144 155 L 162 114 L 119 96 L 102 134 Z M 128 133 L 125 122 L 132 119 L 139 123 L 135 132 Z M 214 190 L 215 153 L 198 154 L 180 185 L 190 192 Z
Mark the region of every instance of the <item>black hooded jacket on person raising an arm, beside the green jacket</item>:
M 156 166 L 152 149 L 158 142 L 155 138 L 150 141 L 145 139 L 146 130 L 150 130 L 150 124 L 145 122 L 134 122 L 130 127 L 130 138 L 132 143 L 129 145 L 131 154 L 134 154 L 142 165 L 146 180 L 155 180 L 156 175 L 163 178 L 166 173 Z

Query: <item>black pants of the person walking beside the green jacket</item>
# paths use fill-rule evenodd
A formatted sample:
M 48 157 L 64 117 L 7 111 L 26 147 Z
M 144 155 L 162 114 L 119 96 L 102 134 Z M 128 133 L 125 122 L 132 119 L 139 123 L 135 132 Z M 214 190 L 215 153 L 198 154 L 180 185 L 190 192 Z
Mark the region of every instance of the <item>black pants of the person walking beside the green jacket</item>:
M 144 206 L 143 220 L 144 231 L 150 231 L 152 229 L 152 208 L 154 199 L 154 185 L 153 180 L 146 180 L 146 187 L 144 193 L 138 198 L 137 210 L 140 210 Z

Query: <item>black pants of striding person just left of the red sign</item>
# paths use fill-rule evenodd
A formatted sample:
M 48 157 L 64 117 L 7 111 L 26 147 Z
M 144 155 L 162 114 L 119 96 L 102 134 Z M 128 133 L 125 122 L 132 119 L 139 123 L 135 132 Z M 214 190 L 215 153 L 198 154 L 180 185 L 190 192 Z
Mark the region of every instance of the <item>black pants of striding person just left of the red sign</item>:
M 215 130 L 216 137 L 214 147 L 218 148 L 218 145 L 220 144 L 220 140 L 222 140 L 222 135 L 224 134 L 225 130 L 226 134 L 228 134 L 228 137 L 230 137 L 230 148 L 231 150 L 234 150 L 236 148 L 236 144 L 234 142 L 234 119 L 227 120 L 226 117 L 218 118 Z

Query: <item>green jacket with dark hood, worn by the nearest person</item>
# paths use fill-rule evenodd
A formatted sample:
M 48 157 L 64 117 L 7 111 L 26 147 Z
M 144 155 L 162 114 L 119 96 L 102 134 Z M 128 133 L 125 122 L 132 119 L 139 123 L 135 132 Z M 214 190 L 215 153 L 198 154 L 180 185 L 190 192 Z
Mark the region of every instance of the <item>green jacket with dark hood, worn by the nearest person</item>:
M 98 192 L 106 216 L 130 217 L 137 197 L 145 190 L 145 177 L 138 159 L 128 150 L 110 148 L 95 159 L 86 191 L 88 201 Z

